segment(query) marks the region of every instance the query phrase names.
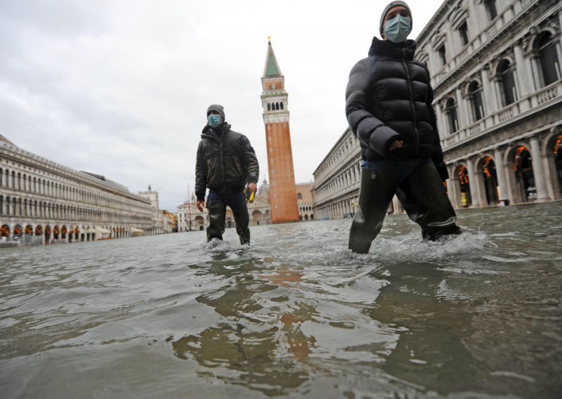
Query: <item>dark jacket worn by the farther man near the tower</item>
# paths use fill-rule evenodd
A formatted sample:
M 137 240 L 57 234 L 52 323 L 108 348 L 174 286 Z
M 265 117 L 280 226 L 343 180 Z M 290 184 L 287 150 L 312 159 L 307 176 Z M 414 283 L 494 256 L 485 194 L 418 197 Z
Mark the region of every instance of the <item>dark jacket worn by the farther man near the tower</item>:
M 203 201 L 207 188 L 218 192 L 242 190 L 258 183 L 256 152 L 246 136 L 223 123 L 218 134 L 208 125 L 201 134 L 195 165 L 195 195 Z

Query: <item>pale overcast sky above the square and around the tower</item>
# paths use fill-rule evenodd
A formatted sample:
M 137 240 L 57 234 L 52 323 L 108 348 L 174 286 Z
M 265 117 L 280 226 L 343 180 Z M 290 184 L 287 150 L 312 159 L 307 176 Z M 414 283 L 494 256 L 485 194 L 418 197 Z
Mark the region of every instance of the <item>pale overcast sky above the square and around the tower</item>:
M 347 127 L 351 67 L 387 1 L 1 0 L 0 133 L 24 150 L 176 211 L 195 186 L 211 103 L 268 179 L 261 77 L 268 37 L 285 76 L 297 183 Z M 410 0 L 417 37 L 443 0 Z

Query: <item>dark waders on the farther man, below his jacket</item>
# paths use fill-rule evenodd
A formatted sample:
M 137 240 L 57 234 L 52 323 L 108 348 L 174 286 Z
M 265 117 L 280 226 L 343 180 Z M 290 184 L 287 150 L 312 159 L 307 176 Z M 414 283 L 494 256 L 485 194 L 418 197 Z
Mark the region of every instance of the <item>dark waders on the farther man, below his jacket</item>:
M 207 242 L 213 238 L 223 239 L 226 221 L 226 207 L 233 211 L 236 233 L 240 237 L 240 244 L 250 243 L 250 229 L 248 207 L 244 192 L 237 191 L 220 194 L 214 190 L 209 191 L 207 197 L 207 211 L 209 211 L 209 227 L 207 227 Z

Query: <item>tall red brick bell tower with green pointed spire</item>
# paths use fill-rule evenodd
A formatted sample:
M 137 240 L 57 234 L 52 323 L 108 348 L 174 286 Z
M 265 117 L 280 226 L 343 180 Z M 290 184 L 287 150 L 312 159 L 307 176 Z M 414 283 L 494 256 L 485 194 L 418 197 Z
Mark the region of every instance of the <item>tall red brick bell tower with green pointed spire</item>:
M 294 184 L 293 153 L 285 77 L 281 74 L 271 41 L 261 78 L 261 105 L 266 124 L 271 223 L 299 221 Z

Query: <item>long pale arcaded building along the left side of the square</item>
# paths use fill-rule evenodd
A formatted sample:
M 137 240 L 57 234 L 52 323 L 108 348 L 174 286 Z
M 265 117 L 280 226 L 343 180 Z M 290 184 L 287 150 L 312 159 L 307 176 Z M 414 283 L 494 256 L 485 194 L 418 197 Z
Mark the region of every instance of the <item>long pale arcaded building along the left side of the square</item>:
M 150 202 L 0 135 L 0 240 L 51 244 L 153 234 Z

